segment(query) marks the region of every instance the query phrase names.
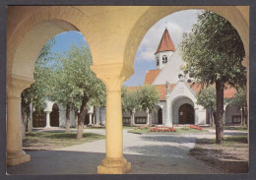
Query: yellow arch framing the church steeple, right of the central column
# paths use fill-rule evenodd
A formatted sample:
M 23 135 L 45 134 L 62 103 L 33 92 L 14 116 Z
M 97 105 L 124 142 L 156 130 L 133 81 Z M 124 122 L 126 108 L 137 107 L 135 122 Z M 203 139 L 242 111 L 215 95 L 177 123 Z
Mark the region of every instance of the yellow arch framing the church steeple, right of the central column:
M 134 64 L 136 51 L 148 30 L 150 30 L 160 19 L 167 15 L 182 10 L 202 9 L 214 12 L 226 19 L 239 33 L 244 49 L 245 59 L 243 65 L 246 66 L 249 61 L 249 22 L 247 15 L 242 14 L 246 7 L 235 6 L 158 6 L 150 7 L 135 23 L 133 29 L 127 38 L 124 51 L 124 64 L 131 68 Z M 247 18 L 247 19 L 246 19 Z

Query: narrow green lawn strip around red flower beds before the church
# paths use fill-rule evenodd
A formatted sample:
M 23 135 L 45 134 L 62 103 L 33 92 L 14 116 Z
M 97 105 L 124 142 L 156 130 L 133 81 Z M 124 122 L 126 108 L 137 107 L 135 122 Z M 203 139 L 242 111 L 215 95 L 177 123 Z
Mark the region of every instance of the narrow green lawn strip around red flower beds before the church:
M 129 133 L 134 133 L 134 134 L 179 134 L 179 133 L 206 133 L 208 130 L 197 130 L 197 129 L 190 129 L 187 127 L 184 128 L 174 128 L 176 132 L 151 132 L 151 128 L 149 127 L 141 127 L 141 128 L 134 128 L 130 131 Z

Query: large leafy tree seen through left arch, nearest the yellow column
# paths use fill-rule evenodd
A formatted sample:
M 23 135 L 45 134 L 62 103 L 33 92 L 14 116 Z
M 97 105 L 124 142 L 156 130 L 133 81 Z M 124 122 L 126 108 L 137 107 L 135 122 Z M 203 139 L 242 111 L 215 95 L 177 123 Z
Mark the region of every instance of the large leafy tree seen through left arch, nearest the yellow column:
M 93 61 L 87 46 L 74 44 L 69 51 L 57 54 L 54 60 L 55 83 L 51 98 L 66 107 L 66 129 L 70 110 L 79 109 L 77 139 L 81 139 L 88 107 L 103 103 L 105 87 L 90 69 Z

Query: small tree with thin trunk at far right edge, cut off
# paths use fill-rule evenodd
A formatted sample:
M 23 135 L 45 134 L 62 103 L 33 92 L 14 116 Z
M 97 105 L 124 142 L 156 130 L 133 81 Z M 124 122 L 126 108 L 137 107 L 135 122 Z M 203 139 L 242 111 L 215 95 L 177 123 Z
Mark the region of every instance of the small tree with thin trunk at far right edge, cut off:
M 231 104 L 237 107 L 239 110 L 241 109 L 241 125 L 245 126 L 245 110 L 247 107 L 247 100 L 246 100 L 246 88 L 244 89 L 238 89 L 234 93 L 234 97 L 231 99 Z M 247 123 L 248 124 L 248 123 Z

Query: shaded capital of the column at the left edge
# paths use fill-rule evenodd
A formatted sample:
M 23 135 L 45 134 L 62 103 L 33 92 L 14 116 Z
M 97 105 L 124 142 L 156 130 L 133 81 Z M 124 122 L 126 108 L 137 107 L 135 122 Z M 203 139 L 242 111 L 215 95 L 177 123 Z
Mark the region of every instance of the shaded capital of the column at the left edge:
M 7 77 L 6 93 L 8 98 L 21 98 L 21 93 L 31 87 L 34 80 L 13 75 Z

